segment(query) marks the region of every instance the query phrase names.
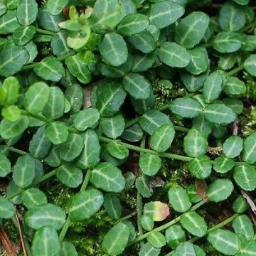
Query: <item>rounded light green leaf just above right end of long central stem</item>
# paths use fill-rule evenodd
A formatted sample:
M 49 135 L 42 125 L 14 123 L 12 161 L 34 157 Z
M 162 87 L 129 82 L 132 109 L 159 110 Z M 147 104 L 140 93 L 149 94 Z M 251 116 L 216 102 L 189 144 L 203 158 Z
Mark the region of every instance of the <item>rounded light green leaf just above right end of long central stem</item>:
M 207 137 L 205 134 L 191 129 L 183 140 L 183 147 L 185 153 L 191 157 L 206 154 L 208 149 Z

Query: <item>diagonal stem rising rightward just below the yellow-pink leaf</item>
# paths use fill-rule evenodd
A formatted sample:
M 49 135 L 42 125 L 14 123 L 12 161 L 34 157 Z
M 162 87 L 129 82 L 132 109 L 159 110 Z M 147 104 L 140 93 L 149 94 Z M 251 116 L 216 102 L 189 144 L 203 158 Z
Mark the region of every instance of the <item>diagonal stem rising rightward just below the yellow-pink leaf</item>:
M 203 206 L 205 203 L 206 203 L 206 202 L 204 202 L 204 201 L 200 201 L 199 203 L 196 203 L 194 206 L 192 206 L 191 209 L 188 210 L 188 211 L 189 211 L 189 212 L 195 211 L 195 210 L 197 210 L 198 208 L 200 208 L 201 206 Z M 136 238 L 134 241 L 130 242 L 130 243 L 127 245 L 127 247 L 130 246 L 130 245 L 134 245 L 134 243 L 137 243 L 137 242 L 139 242 L 139 241 L 144 240 L 145 238 L 147 238 L 147 237 L 148 237 L 151 233 L 153 233 L 153 232 L 160 232 L 160 231 L 162 231 L 162 230 L 166 230 L 166 228 L 171 227 L 171 225 L 174 225 L 175 223 L 178 223 L 178 221 L 181 220 L 181 216 L 184 215 L 184 214 L 186 214 L 186 213 L 183 213 L 183 214 L 179 215 L 178 217 L 174 218 L 174 220 L 171 220 L 169 223 L 166 223 L 166 224 L 164 224 L 164 225 L 161 225 L 161 226 L 158 227 L 158 228 L 154 228 L 153 230 L 151 230 L 151 231 L 149 231 L 149 232 L 147 232 L 147 233 L 144 233 L 143 235 L 140 235 L 140 236 L 139 236 L 138 238 Z

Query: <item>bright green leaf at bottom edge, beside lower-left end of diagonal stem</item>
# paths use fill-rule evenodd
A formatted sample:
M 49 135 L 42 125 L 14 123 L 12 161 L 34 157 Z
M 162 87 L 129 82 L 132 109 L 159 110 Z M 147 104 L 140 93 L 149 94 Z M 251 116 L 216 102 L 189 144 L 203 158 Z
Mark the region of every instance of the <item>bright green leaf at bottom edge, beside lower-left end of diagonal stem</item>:
M 121 255 L 129 239 L 129 227 L 120 222 L 111 228 L 102 242 L 102 249 L 110 256 Z

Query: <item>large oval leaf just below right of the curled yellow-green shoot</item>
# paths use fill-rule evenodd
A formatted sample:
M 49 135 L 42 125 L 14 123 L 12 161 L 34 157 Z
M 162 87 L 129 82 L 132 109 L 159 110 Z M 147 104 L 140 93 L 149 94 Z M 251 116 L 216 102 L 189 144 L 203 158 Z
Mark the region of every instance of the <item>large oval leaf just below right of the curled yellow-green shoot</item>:
M 99 42 L 100 54 L 113 66 L 127 61 L 128 50 L 124 38 L 117 33 L 107 33 Z

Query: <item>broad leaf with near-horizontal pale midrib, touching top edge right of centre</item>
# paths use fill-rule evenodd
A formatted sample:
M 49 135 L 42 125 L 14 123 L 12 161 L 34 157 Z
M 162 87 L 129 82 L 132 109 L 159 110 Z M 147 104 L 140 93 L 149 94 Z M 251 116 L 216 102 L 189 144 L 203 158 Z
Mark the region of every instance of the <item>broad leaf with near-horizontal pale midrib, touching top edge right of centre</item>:
M 156 2 L 149 8 L 149 20 L 156 28 L 165 28 L 181 18 L 184 12 L 182 6 L 171 1 Z

